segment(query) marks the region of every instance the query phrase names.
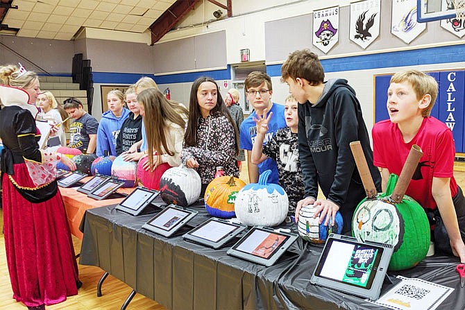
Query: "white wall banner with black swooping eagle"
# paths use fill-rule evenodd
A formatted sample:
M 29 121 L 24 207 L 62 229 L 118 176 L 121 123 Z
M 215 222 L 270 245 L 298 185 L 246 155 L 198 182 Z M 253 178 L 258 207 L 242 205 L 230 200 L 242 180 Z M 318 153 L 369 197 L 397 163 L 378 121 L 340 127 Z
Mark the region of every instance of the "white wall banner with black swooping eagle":
M 350 3 L 350 40 L 366 49 L 380 35 L 381 0 Z

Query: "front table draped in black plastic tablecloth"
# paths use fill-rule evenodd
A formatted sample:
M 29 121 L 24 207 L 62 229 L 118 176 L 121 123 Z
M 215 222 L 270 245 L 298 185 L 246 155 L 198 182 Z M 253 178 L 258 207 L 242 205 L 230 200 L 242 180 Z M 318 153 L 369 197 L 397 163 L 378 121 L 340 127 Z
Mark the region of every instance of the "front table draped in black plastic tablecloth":
M 198 212 L 190 225 L 208 218 L 203 208 Z M 115 206 L 88 209 L 81 225 L 80 264 L 99 266 L 168 309 L 386 309 L 310 284 L 320 246 L 299 239 L 292 252 L 264 267 L 226 255 L 227 248 L 212 250 L 184 241 L 180 234 L 165 238 L 142 229 L 152 216 L 130 216 Z M 452 257 L 427 257 L 389 275 L 453 287 L 439 309 L 458 310 L 464 309 L 465 288 L 460 288 L 456 264 Z

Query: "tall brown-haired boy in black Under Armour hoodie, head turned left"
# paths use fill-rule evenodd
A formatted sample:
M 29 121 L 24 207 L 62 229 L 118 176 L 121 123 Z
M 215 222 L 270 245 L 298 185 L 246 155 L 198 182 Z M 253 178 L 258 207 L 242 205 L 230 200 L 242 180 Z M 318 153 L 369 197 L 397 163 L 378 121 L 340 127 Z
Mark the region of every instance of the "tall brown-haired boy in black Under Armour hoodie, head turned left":
M 316 205 L 320 223 L 325 225 L 339 211 L 344 218 L 343 233 L 350 232 L 353 212 L 366 196 L 362 180 L 350 151 L 350 142 L 360 141 L 378 191 L 381 178 L 373 165 L 373 152 L 362 108 L 355 91 L 344 79 L 324 82 L 318 56 L 308 49 L 295 51 L 282 64 L 281 80 L 298 103 L 298 146 L 301 160 L 304 199 L 296 207 Z M 326 200 L 317 200 L 318 185 Z

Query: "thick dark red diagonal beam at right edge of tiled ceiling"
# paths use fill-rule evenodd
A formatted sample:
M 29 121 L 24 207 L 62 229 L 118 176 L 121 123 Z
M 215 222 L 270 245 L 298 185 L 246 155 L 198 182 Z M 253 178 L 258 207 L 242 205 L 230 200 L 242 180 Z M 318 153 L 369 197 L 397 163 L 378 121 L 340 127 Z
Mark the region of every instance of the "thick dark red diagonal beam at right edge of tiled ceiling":
M 194 9 L 194 6 L 201 0 L 177 0 L 168 10 L 164 11 L 160 17 L 149 27 L 152 33 L 151 45 L 155 44 L 166 35 L 185 15 Z

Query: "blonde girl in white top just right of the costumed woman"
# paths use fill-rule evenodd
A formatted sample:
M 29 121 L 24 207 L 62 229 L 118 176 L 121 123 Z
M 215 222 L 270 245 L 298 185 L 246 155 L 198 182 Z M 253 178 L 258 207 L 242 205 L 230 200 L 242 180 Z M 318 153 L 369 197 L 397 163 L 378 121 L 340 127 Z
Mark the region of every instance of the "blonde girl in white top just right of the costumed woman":
M 37 97 L 37 107 L 42 110 L 39 114 L 42 119 L 52 121 L 53 125 L 57 125 L 63 121 L 62 114 L 60 114 L 59 108 L 61 107 L 56 102 L 55 96 L 51 92 L 42 92 Z M 65 111 L 65 110 L 63 110 Z M 66 115 L 66 112 L 65 112 Z M 66 117 L 65 117 L 66 119 Z M 65 129 L 67 128 L 67 121 L 58 127 L 56 136 L 60 137 L 61 146 L 67 146 Z

